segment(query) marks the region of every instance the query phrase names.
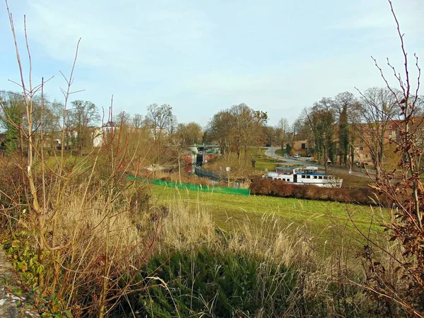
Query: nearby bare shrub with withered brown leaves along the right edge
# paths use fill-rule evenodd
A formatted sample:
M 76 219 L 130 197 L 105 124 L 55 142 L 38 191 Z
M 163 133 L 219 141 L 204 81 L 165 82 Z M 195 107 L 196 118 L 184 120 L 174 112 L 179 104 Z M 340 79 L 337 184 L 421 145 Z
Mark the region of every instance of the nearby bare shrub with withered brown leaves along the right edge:
M 387 118 L 392 114 L 399 114 L 399 120 L 392 122 L 399 131 L 399 140 L 394 141 L 395 152 L 400 153 L 398 167 L 389 170 L 382 165 L 379 171 L 380 177 L 376 178 L 372 185 L 379 194 L 387 196 L 391 206 L 394 206 L 394 218 L 384 225 L 384 231 L 389 234 L 389 241 L 394 244 L 385 248 L 379 242 L 368 238 L 363 255 L 367 265 L 364 267 L 367 278 L 364 290 L 368 297 L 377 300 L 376 311 L 378 310 L 379 314 L 384 317 L 394 317 L 394 314 L 397 315 L 394 310 L 399 307 L 402 310 L 398 311 L 400 312 L 399 316 L 424 317 L 424 185 L 423 167 L 420 166 L 420 159 L 423 156 L 421 131 L 424 121 L 423 117 L 416 116 L 420 113 L 417 112 L 417 109 L 420 108 L 421 69 L 418 57 L 414 55 L 417 78 L 413 83 L 411 66 L 409 66 L 404 45 L 404 34 L 401 33 L 399 21 L 390 0 L 389 5 L 397 26 L 404 70 L 396 71 L 389 59 L 387 59 L 387 65 L 399 84 L 400 92 L 389 85 L 382 68 L 374 59 L 375 65 L 386 83 L 386 88 L 377 90 L 377 92 L 372 91 L 372 96 L 364 94 L 363 98 L 370 108 L 367 118 L 374 118 L 372 122 L 374 131 L 370 131 L 370 134 L 380 136 L 375 144 L 370 142 L 377 160 L 379 159 L 379 148 L 384 142 L 381 138 L 382 134 L 376 134 L 377 128 L 382 129 L 384 122 L 390 120 Z M 375 95 L 377 96 L 375 97 Z M 383 196 L 381 198 L 384 199 Z M 367 234 L 363 233 L 363 236 L 367 237 Z M 375 249 L 379 253 L 376 253 Z M 382 259 L 386 260 L 385 264 L 378 254 L 381 254 Z M 387 264 L 390 264 L 389 268 Z M 394 283 L 394 273 L 401 277 L 401 283 Z

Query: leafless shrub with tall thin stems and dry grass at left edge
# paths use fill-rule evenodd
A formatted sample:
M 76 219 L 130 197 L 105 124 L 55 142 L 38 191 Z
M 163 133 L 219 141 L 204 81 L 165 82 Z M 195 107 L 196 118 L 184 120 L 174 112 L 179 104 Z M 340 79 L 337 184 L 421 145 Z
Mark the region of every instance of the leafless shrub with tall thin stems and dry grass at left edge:
M 0 169 L 7 170 L 1 187 L 6 198 L 1 208 L 1 219 L 6 220 L 11 232 L 28 230 L 33 237 L 31 248 L 39 264 L 35 285 L 40 299 L 54 295 L 55 305 L 40 308 L 50 314 L 95 314 L 105 317 L 119 300 L 137 289 L 132 276 L 136 266 L 143 264 L 151 253 L 157 235 L 158 222 L 151 223 L 147 217 L 148 200 L 143 196 L 145 188 L 125 179 L 126 170 L 136 168 L 134 155 L 129 155 L 128 134 L 124 125 L 105 134 L 103 147 L 91 151 L 81 160 L 69 161 L 64 147 L 59 154 L 48 158 L 45 153 L 43 130 L 44 88 L 47 81 L 33 85 L 30 47 L 26 33 L 26 49 L 29 75 L 25 78 L 16 40 L 13 16 L 8 10 L 20 83 L 25 104 L 25 125 L 17 124 L 20 134 L 20 153 L 0 158 Z M 78 57 L 79 41 L 75 59 L 68 78 L 64 76 L 65 122 L 66 106 L 73 84 L 73 71 Z M 62 73 L 63 75 L 63 73 Z M 40 93 L 40 124 L 33 122 L 35 94 Z M 109 119 L 112 119 L 112 102 Z M 7 112 L 4 111 L 7 115 Z M 37 144 L 35 142 L 37 135 Z M 65 128 L 61 131 L 64 145 Z M 132 147 L 137 145 L 132 143 Z M 134 213 L 134 210 L 137 213 Z M 143 217 L 143 213 L 146 214 Z M 124 285 L 119 284 L 122 276 Z M 139 282 L 141 285 L 142 282 Z M 59 307 L 59 309 L 58 309 Z

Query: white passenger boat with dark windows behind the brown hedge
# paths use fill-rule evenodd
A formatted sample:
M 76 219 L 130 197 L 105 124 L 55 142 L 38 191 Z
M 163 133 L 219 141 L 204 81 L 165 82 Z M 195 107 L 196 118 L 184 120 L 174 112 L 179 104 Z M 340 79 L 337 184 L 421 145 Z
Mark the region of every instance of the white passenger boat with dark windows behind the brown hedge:
M 277 179 L 293 184 L 312 184 L 318 187 L 340 188 L 343 179 L 336 179 L 334 175 L 318 172 L 318 167 L 277 167 L 276 171 L 268 172 L 262 177 Z

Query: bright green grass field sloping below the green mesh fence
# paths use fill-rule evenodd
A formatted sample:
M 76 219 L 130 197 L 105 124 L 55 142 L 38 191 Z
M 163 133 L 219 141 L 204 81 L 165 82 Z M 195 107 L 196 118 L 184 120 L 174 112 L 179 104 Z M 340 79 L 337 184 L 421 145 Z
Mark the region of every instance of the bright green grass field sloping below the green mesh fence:
M 153 197 L 158 204 L 172 205 L 175 202 L 196 209 L 203 208 L 211 213 L 216 225 L 224 230 L 241 228 L 246 220 L 257 226 L 269 226 L 270 230 L 278 225 L 295 231 L 305 228 L 319 245 L 338 244 L 349 240 L 354 245 L 365 242 L 362 235 L 351 222 L 371 237 L 381 233 L 382 218 L 389 218 L 387 210 L 341 204 L 330 201 L 312 201 L 271 196 L 233 196 L 206 192 L 190 192 L 167 187 L 153 186 Z M 383 216 L 383 214 L 385 214 Z M 268 217 L 266 217 L 268 216 Z M 264 222 L 268 219 L 269 222 Z

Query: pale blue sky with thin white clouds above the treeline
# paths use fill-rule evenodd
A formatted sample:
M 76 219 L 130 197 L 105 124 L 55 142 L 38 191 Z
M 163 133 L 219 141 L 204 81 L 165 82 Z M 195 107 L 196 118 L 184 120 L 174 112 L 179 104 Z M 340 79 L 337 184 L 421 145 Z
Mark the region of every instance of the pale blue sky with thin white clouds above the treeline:
M 0 6 L 0 90 L 20 81 L 6 5 Z M 422 0 L 393 0 L 409 53 L 424 59 Z M 33 83 L 63 101 L 78 39 L 71 100 L 146 114 L 170 104 L 179 122 L 206 126 L 242 102 L 291 123 L 303 107 L 343 91 L 382 87 L 371 56 L 391 85 L 403 60 L 387 0 L 8 0 L 28 78 L 23 16 Z M 423 64 L 424 65 L 424 64 Z M 424 67 L 424 66 L 423 66 Z M 413 87 L 416 80 L 413 81 Z

